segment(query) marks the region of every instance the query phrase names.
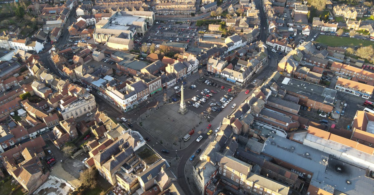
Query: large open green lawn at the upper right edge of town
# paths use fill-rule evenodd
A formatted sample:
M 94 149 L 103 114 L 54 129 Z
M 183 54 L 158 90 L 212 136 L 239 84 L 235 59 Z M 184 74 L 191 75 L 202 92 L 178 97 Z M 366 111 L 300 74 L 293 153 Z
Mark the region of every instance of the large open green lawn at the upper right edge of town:
M 327 44 L 328 46 L 337 47 L 337 46 L 374 46 L 374 41 L 370 40 L 361 40 L 357 38 L 350 38 L 350 37 L 338 37 L 338 36 L 327 36 L 327 35 L 319 35 L 318 38 L 315 40 L 319 43 Z

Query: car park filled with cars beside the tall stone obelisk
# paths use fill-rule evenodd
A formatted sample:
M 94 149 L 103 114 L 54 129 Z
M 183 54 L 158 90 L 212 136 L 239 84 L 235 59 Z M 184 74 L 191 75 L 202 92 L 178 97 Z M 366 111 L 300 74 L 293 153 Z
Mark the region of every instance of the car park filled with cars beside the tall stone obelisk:
M 185 86 L 184 99 L 188 109 L 212 120 L 211 117 L 215 118 L 223 109 L 232 108 L 233 103 L 230 102 L 236 95 L 229 92 L 231 91 L 231 86 L 227 84 L 224 85 L 212 80 L 208 80 L 210 83 L 207 81 L 206 83 L 208 84 L 206 84 L 205 81 L 206 79 L 202 81 L 196 80 Z M 180 89 L 175 90 L 175 92 L 170 99 L 173 102 L 180 101 Z

